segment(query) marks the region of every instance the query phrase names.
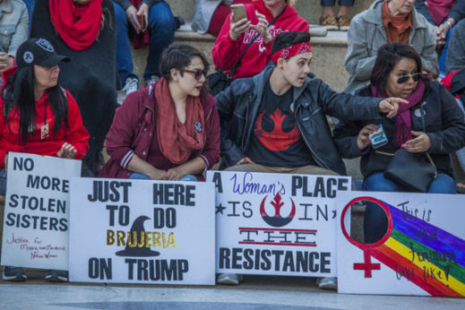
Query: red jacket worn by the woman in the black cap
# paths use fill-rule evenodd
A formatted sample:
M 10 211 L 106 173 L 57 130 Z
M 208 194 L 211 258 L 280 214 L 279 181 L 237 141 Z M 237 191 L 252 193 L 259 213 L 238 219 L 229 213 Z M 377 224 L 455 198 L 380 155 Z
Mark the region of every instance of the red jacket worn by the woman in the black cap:
M 13 75 L 17 67 L 4 71 L 3 79 L 6 80 Z M 68 142 L 76 149 L 74 159 L 82 159 L 89 150 L 89 133 L 82 125 L 81 112 L 76 101 L 68 90 L 68 125 L 65 125 L 54 133 L 55 115 L 48 104 L 48 91 L 44 92 L 39 101 L 36 101 L 36 125 L 34 132 L 28 136 L 26 144 L 22 144 L 20 136 L 20 114 L 18 108 L 14 107 L 7 118 L 4 116 L 4 100 L 0 97 L 0 168 L 4 168 L 4 156 L 9 151 L 31 153 L 38 155 L 56 156 L 64 142 Z M 49 134 L 45 139 L 41 139 L 41 126 L 44 125 L 44 118 L 47 116 Z

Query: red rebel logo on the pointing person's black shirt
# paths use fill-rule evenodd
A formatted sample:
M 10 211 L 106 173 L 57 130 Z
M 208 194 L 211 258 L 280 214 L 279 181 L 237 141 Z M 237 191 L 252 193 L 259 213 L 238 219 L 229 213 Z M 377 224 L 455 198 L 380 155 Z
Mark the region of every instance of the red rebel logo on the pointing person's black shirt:
M 273 127 L 271 132 L 267 132 L 263 128 L 263 116 L 268 117 L 272 121 Z M 300 139 L 300 132 L 298 131 L 296 122 L 293 122 L 294 126 L 289 132 L 284 132 L 283 124 L 288 117 L 290 116 L 282 113 L 280 108 L 276 108 L 270 116 L 266 116 L 265 112 L 262 112 L 262 114 L 257 117 L 254 133 L 258 141 L 260 141 L 265 148 L 270 151 L 286 151 L 292 144 Z

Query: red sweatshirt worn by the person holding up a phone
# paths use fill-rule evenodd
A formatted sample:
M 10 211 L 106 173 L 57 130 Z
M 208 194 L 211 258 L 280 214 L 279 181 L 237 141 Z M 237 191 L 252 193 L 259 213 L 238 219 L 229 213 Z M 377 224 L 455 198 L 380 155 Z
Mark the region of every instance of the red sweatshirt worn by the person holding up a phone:
M 273 20 L 273 16 L 270 11 L 265 7 L 263 1 L 254 1 L 253 4 L 245 4 L 245 13 L 247 13 L 248 20 L 256 25 L 258 18 L 255 15 L 255 10 L 258 13 L 262 13 L 266 16 L 268 22 Z M 230 14 L 221 28 L 220 35 L 215 41 L 215 45 L 211 50 L 211 56 L 213 57 L 213 63 L 228 73 L 231 68 L 236 65 L 237 60 L 242 55 L 245 47 L 250 43 L 256 36 L 257 32 L 253 29 L 246 30 L 237 41 L 229 37 L 229 22 Z M 284 13 L 281 14 L 280 18 L 274 22 L 269 32 L 273 38 L 284 31 L 308 31 L 308 22 L 299 16 L 296 9 L 292 6 L 286 6 Z M 242 58 L 241 64 L 237 68 L 236 73 L 233 74 L 233 78 L 244 78 L 251 77 L 257 73 L 262 72 L 271 58 L 271 45 L 272 40 L 268 44 L 263 42 L 262 37 L 258 37 L 252 46 L 245 53 Z

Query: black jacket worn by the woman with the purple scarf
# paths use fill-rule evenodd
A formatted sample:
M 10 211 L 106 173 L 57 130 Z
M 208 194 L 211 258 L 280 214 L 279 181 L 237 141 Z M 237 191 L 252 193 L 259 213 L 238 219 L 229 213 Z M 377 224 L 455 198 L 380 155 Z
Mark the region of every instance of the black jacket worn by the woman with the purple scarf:
M 371 85 L 357 90 L 360 96 L 371 96 Z M 423 132 L 421 108 L 425 113 L 426 134 L 431 141 L 428 153 L 435 162 L 438 172 L 452 175 L 450 154 L 461 149 L 465 143 L 465 123 L 463 113 L 452 95 L 439 82 L 426 82 L 423 99 L 417 106 L 410 109 L 412 130 Z M 395 118 L 374 118 L 361 122 L 341 122 L 334 130 L 334 139 L 344 158 L 362 156 L 360 170 L 364 177 L 374 173 L 384 172 L 392 157 L 375 152 L 371 145 L 365 150 L 357 148 L 359 131 L 367 124 L 383 125 L 384 133 L 389 142 L 378 150 L 394 153 L 397 147 L 392 144 Z

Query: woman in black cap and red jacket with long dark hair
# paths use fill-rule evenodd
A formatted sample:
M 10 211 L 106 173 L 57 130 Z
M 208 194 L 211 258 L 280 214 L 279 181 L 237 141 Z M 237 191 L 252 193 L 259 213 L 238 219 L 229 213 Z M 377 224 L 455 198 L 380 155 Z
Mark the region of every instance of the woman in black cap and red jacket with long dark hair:
M 18 47 L 14 66 L 3 73 L 0 90 L 0 194 L 6 189 L 8 152 L 82 159 L 89 133 L 82 125 L 73 96 L 58 83 L 56 55 L 46 39 L 29 39 Z M 46 280 L 67 280 L 65 271 L 51 271 Z M 62 274 L 63 273 L 63 274 Z M 5 267 L 4 280 L 26 280 L 21 268 Z

